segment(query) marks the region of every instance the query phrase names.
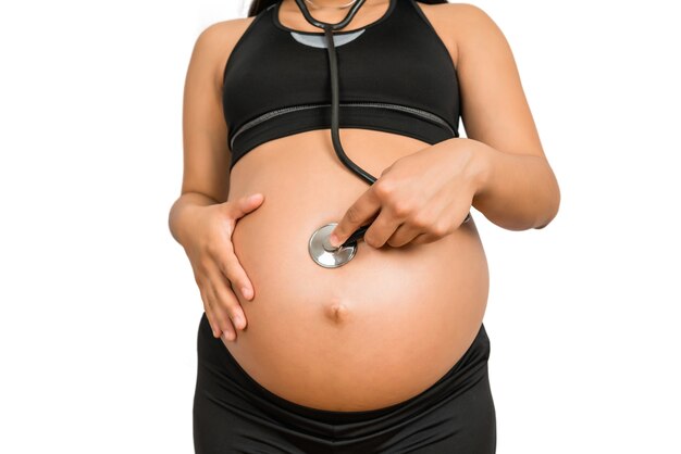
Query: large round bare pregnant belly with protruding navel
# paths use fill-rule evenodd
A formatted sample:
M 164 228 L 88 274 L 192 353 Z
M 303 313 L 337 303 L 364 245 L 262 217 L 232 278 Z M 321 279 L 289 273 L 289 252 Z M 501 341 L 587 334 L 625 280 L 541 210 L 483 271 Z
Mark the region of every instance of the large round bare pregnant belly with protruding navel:
M 344 129 L 344 150 L 379 177 L 428 143 Z M 248 327 L 230 353 L 273 393 L 314 408 L 362 411 L 407 400 L 465 353 L 482 321 L 485 254 L 471 220 L 429 244 L 381 249 L 358 242 L 355 257 L 323 268 L 308 240 L 338 222 L 369 185 L 338 161 L 329 130 L 288 136 L 234 166 L 230 200 L 261 192 L 232 241 L 255 298 L 237 298 Z

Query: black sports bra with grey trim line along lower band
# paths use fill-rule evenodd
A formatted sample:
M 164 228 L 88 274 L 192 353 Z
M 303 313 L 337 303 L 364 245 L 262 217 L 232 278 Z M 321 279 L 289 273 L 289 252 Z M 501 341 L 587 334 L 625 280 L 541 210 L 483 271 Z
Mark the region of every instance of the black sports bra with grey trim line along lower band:
M 339 127 L 395 133 L 431 144 L 459 137 L 459 84 L 447 48 L 416 0 L 389 1 L 377 21 L 334 34 Z M 331 128 L 324 33 L 284 26 L 280 4 L 252 20 L 225 65 L 230 171 L 269 140 Z

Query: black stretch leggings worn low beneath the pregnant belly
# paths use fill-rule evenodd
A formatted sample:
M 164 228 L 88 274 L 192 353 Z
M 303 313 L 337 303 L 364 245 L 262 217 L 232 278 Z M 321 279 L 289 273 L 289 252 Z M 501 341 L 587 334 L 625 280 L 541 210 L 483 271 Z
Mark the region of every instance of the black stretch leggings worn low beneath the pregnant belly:
M 270 392 L 212 336 L 205 313 L 197 348 L 197 454 L 496 452 L 484 324 L 463 356 L 432 387 L 405 402 L 366 412 L 311 408 Z

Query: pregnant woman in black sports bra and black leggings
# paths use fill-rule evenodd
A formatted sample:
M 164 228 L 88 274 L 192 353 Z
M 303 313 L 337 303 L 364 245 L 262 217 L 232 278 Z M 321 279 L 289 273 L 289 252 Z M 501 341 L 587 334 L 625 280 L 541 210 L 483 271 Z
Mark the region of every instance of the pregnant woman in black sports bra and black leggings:
M 482 10 L 357 1 L 253 1 L 195 45 L 169 223 L 205 307 L 197 453 L 495 452 L 488 270 L 468 215 L 542 228 L 558 185 Z M 308 7 L 355 15 L 326 35 Z M 331 49 L 336 131 L 373 184 L 334 147 Z M 327 224 L 330 251 L 369 226 L 342 266 L 311 256 Z

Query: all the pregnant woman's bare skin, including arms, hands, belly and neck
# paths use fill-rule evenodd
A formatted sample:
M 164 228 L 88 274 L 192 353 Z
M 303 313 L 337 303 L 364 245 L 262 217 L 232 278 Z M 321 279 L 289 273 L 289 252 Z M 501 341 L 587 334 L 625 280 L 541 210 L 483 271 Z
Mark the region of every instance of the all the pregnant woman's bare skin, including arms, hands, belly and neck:
M 558 184 L 499 28 L 470 4 L 419 7 L 457 67 L 468 138 L 430 146 L 342 129 L 350 159 L 380 175 L 370 187 L 337 160 L 329 129 L 263 143 L 230 173 L 221 76 L 252 17 L 208 27 L 191 55 L 171 231 L 213 335 L 257 381 L 302 405 L 375 408 L 436 381 L 470 345 L 486 306 L 482 243 L 473 220 L 461 224 L 470 207 L 512 230 L 545 227 L 558 211 Z M 345 29 L 386 8 L 368 0 Z M 337 22 L 345 12 L 314 15 Z M 280 21 L 319 31 L 293 0 Z M 329 273 L 307 256 L 319 226 L 339 222 L 338 244 L 369 220 L 350 264 Z M 267 258 L 272 251 L 276 260 Z

